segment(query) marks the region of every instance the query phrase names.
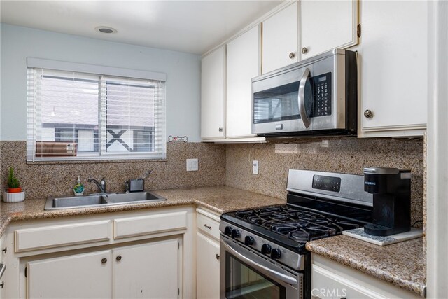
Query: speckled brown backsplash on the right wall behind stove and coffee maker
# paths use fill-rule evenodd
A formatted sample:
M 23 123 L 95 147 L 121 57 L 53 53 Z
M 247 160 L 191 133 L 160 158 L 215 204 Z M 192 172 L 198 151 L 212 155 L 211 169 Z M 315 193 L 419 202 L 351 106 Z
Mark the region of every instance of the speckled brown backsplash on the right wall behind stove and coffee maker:
M 258 174 L 252 161 L 258 160 Z M 225 184 L 286 198 L 288 169 L 363 174 L 363 167 L 412 170 L 412 223 L 423 219 L 423 139 L 357 139 L 354 137 L 228 144 Z

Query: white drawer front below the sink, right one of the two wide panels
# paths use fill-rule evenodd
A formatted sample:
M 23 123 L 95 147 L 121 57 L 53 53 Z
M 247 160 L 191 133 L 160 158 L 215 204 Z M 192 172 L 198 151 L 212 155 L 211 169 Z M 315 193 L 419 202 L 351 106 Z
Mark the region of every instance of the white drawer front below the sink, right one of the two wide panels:
M 186 211 L 121 218 L 113 221 L 113 237 L 119 239 L 173 230 L 185 230 L 186 228 Z

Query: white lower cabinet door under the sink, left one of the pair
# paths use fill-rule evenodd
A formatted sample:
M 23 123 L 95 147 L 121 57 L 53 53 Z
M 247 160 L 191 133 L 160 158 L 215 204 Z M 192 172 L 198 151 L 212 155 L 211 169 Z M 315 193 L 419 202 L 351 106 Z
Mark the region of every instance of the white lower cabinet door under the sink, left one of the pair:
M 111 251 L 27 263 L 27 298 L 111 298 Z

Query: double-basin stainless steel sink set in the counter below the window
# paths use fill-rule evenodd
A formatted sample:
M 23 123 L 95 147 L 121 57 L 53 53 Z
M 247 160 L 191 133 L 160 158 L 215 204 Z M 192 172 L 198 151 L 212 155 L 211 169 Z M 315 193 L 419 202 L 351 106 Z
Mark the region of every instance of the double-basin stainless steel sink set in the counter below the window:
M 119 204 L 137 204 L 142 202 L 160 202 L 167 200 L 152 192 L 107 193 L 73 197 L 48 197 L 45 210 L 80 209 L 85 207 L 109 207 Z

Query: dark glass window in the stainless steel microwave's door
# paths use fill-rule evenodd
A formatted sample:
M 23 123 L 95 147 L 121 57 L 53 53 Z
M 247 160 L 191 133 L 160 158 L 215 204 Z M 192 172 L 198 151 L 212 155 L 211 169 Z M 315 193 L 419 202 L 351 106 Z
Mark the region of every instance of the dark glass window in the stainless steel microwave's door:
M 313 106 L 311 81 L 307 81 L 304 90 L 305 109 L 309 117 Z M 297 81 L 255 92 L 253 95 L 253 123 L 270 123 L 300 118 L 299 84 L 300 81 Z

